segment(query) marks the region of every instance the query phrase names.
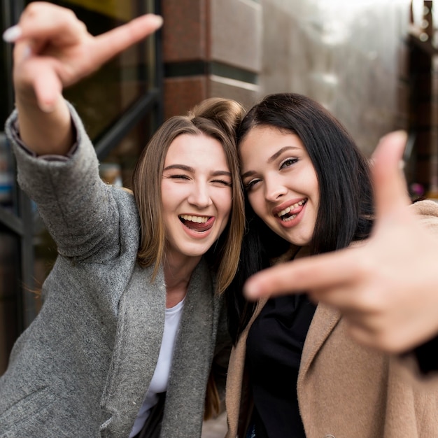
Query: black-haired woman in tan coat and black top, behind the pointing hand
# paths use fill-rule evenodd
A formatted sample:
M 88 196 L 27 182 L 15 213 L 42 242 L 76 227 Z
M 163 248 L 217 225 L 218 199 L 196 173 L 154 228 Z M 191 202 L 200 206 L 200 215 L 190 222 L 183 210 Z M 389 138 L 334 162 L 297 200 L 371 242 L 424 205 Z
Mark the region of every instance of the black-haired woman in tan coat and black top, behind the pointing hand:
M 351 136 L 315 101 L 274 94 L 248 112 L 237 137 L 248 230 L 227 290 L 229 437 L 438 435 L 438 393 L 413 388 L 393 358 L 356 344 L 339 311 L 304 291 L 255 305 L 242 295 L 260 269 L 369 236 L 369 164 Z M 411 208 L 438 227 L 435 203 Z

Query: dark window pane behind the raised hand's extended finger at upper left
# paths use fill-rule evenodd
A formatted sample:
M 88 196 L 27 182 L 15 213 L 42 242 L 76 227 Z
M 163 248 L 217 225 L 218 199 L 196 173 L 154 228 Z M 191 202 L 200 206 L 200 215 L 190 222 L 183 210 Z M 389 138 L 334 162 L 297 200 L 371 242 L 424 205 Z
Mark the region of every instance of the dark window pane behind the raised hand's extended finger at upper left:
M 97 35 L 113 29 L 150 10 L 140 10 L 148 2 L 126 0 L 54 1 L 71 8 L 87 24 L 90 34 Z M 108 127 L 145 94 L 153 82 L 153 38 L 125 50 L 111 59 L 92 76 L 69 87 L 66 99 L 83 118 L 90 138 L 97 141 Z

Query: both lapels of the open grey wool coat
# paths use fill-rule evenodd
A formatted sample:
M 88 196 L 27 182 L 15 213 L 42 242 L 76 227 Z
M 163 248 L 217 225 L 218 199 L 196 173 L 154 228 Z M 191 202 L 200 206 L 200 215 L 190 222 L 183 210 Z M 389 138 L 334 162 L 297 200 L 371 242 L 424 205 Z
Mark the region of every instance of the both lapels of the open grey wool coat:
M 136 266 L 120 299 L 111 369 L 101 398 L 102 409 L 111 416 L 101 426 L 105 437 L 129 435 L 155 372 L 164 332 L 166 285 L 162 269 L 153 283 L 151 273 L 152 269 Z M 163 428 L 188 433 L 181 436 L 197 435 L 192 435 L 191 428 L 197 428 L 197 420 L 202 419 L 222 303 L 213 288 L 213 278 L 202 260 L 192 274 L 185 297 L 164 410 Z

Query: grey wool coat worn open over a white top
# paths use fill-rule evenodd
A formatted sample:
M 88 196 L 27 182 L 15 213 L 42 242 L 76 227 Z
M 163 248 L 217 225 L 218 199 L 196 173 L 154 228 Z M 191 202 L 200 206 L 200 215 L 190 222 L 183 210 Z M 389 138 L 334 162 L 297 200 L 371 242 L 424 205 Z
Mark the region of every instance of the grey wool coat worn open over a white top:
M 100 180 L 90 139 L 73 108 L 71 115 L 78 143 L 64 161 L 32 157 L 17 145 L 15 113 L 6 123 L 18 181 L 59 255 L 43 285 L 42 309 L 0 378 L 0 437 L 128 437 L 160 352 L 162 270 L 152 283 L 151 269 L 136 263 L 134 198 Z M 212 361 L 225 375 L 229 339 L 213 290 L 202 260 L 185 298 L 162 437 L 199 437 Z

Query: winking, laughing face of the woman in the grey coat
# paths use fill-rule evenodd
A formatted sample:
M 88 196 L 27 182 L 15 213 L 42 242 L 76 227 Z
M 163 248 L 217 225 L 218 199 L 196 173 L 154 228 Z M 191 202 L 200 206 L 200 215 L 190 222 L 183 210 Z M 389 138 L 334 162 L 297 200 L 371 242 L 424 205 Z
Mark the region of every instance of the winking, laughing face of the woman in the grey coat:
M 204 134 L 181 134 L 164 160 L 161 184 L 166 253 L 200 258 L 227 225 L 232 176 L 222 145 Z

